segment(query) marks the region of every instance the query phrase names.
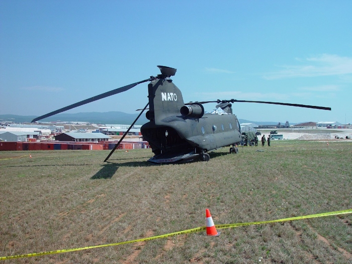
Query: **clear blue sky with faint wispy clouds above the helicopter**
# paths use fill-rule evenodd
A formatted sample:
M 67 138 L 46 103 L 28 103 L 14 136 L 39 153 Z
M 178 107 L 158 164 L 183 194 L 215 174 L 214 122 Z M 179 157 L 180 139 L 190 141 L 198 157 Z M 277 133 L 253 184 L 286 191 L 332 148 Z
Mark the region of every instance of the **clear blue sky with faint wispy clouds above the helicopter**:
M 0 2 L 0 114 L 40 116 L 177 68 L 185 102 L 240 119 L 352 123 L 352 1 Z M 136 113 L 147 83 L 67 111 Z M 216 104 L 205 105 L 212 110 Z

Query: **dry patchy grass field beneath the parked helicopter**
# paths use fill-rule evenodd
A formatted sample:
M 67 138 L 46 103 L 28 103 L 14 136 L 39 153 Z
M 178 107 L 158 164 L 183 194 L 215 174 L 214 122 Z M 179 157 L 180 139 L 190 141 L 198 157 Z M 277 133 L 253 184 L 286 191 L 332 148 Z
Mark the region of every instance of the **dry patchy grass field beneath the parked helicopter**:
M 260 151 L 258 151 L 260 150 Z M 262 151 L 261 151 L 262 150 Z M 149 149 L 0 152 L 0 256 L 117 243 L 205 225 L 352 209 L 352 142 L 272 141 L 208 162 Z M 31 154 L 32 158 L 29 157 Z M 352 215 L 222 229 L 4 263 L 352 263 Z

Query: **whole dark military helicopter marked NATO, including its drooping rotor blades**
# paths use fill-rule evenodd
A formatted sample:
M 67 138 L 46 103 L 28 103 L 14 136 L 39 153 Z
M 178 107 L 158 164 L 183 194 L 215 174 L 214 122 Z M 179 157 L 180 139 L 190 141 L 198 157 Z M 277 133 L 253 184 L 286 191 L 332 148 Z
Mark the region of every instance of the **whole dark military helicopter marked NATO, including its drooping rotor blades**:
M 231 103 L 261 103 L 331 110 L 327 107 L 235 99 L 185 104 L 181 91 L 170 79 L 171 76 L 175 75 L 177 69 L 166 66 L 157 67 L 161 74 L 156 77 L 150 76 L 148 79 L 58 109 L 33 119 L 32 123 L 125 92 L 137 84 L 150 81 L 148 84 L 149 102 L 104 161 L 110 158 L 125 135 L 149 106 L 146 112 L 146 118 L 149 122 L 141 127 L 143 138 L 149 142 L 154 153 L 154 156 L 148 161 L 154 164 L 165 164 L 187 162 L 198 158 L 202 161 L 208 161 L 210 151 L 226 146 L 230 146 L 230 153 L 237 153 L 237 144 L 242 140 L 241 127 L 236 115 L 232 113 Z M 205 113 L 203 104 L 207 103 L 218 104 L 214 113 Z

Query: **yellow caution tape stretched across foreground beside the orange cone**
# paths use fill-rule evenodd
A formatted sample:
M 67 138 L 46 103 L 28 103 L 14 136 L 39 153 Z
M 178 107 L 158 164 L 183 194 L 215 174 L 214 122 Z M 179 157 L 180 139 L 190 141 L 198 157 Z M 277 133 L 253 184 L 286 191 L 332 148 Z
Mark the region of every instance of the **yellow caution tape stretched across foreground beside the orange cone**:
M 238 227 L 238 226 L 268 224 L 268 223 L 275 223 L 275 222 L 285 222 L 285 221 L 293 221 L 293 220 L 315 218 L 315 217 L 322 217 L 322 216 L 350 214 L 350 213 L 352 213 L 352 209 L 342 210 L 342 211 L 335 211 L 335 212 L 329 212 L 329 213 L 314 214 L 314 215 L 296 216 L 296 217 L 290 217 L 290 218 L 284 218 L 284 219 L 278 219 L 278 220 L 261 221 L 261 222 L 215 225 L 215 227 L 218 228 L 218 229 L 224 229 L 224 228 L 231 228 L 231 227 Z M 13 255 L 13 256 L 2 256 L 2 257 L 0 257 L 0 260 L 11 259 L 11 258 L 20 258 L 20 257 L 30 257 L 30 256 L 41 256 L 41 255 L 57 254 L 57 253 L 85 250 L 85 249 L 98 248 L 98 247 L 104 247 L 104 246 L 117 246 L 117 245 L 123 245 L 123 244 L 128 244 L 128 243 L 135 243 L 135 242 L 154 240 L 154 239 L 158 239 L 158 238 L 165 238 L 165 237 L 175 236 L 175 235 L 190 234 L 190 233 L 195 233 L 195 232 L 199 232 L 199 231 L 204 231 L 206 229 L 207 229 L 206 226 L 202 226 L 202 227 L 197 227 L 197 228 L 188 229 L 188 230 L 184 230 L 184 231 L 179 231 L 179 232 L 174 232 L 174 233 L 169 233 L 169 234 L 164 234 L 164 235 L 158 235 L 158 236 L 151 236 L 151 237 L 146 237 L 146 238 L 141 238 L 141 239 L 125 241 L 125 242 L 112 243 L 112 244 L 96 245 L 96 246 L 85 246 L 85 247 L 61 249 L 61 250 L 54 250 L 54 251 L 44 251 L 44 252 L 39 252 L 39 253 L 30 253 L 30 254 Z

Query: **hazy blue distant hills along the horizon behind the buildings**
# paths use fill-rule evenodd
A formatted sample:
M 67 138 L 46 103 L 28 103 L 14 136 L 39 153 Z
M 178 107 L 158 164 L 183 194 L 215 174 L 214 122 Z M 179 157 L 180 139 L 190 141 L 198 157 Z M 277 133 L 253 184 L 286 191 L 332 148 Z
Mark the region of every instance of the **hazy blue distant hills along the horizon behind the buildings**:
M 137 118 L 139 113 L 136 114 L 126 114 L 123 112 L 89 112 L 89 113 L 75 113 L 75 114 L 57 114 L 52 117 L 44 118 L 40 120 L 41 122 L 57 122 L 57 121 L 67 121 L 67 122 L 90 122 L 94 124 L 132 124 L 132 122 Z M 12 121 L 14 123 L 30 123 L 37 116 L 18 116 L 18 115 L 0 115 L 0 122 Z M 147 123 L 148 120 L 143 113 L 137 120 L 136 125 L 143 125 Z M 255 123 L 257 125 L 277 125 L 278 122 L 258 122 L 249 121 L 245 119 L 239 119 L 239 123 Z M 290 124 L 291 125 L 291 124 Z

